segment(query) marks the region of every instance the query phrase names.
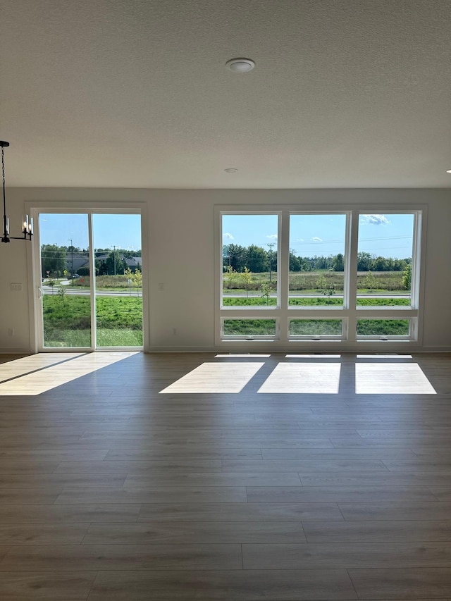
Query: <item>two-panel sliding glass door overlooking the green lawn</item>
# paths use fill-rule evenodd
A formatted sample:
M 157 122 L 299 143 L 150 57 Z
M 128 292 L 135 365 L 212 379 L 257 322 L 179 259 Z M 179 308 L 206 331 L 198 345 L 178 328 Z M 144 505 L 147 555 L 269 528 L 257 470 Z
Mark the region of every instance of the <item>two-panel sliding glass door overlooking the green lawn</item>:
M 43 212 L 38 222 L 39 349 L 142 347 L 140 214 Z

